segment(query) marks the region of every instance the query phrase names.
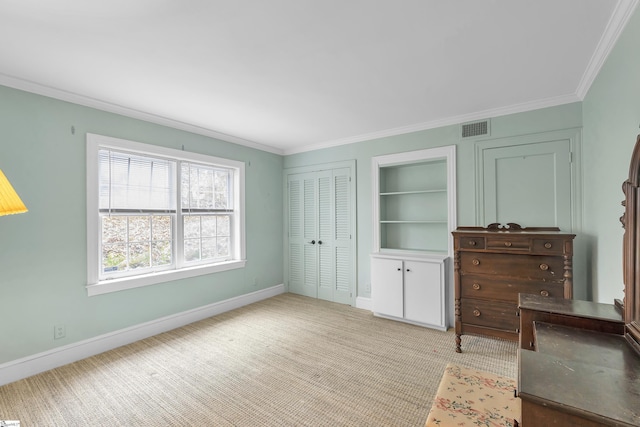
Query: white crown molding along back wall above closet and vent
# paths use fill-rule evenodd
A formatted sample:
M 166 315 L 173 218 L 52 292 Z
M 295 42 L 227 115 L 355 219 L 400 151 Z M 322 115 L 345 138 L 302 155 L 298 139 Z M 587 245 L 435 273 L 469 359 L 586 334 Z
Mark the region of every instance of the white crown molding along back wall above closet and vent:
M 337 147 L 340 145 L 353 144 L 356 142 L 369 141 L 373 139 L 387 138 L 396 135 L 403 135 L 411 132 L 419 132 L 428 129 L 435 129 L 443 126 L 458 125 L 465 122 L 482 120 L 492 117 L 506 116 L 508 114 L 523 113 L 540 108 L 555 107 L 557 105 L 570 104 L 572 102 L 581 101 L 577 95 L 569 94 L 556 96 L 552 98 L 540 99 L 532 102 L 524 102 L 521 104 L 510 105 L 508 107 L 493 108 L 489 110 L 479 111 L 476 113 L 464 114 L 461 116 L 447 117 L 444 119 L 434 120 L 415 125 L 397 127 L 393 129 L 385 129 L 379 132 L 366 133 L 363 135 L 355 135 L 348 138 L 336 139 L 333 141 L 322 142 L 319 144 L 307 145 L 284 150 L 285 155 L 303 153 L 307 151 L 321 150 L 323 148 Z

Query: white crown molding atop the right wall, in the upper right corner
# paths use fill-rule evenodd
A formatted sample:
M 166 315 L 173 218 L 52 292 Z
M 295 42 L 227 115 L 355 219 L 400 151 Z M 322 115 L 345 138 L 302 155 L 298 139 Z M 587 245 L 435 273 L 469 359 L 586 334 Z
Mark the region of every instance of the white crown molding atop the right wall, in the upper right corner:
M 629 18 L 633 15 L 633 11 L 638 5 L 638 2 L 639 0 L 618 0 L 613 13 L 611 14 L 611 19 L 607 24 L 607 28 L 602 33 L 598 46 L 593 52 L 589 65 L 578 84 L 576 94 L 580 100 L 583 100 L 584 97 L 587 96 L 587 92 L 589 92 L 593 81 L 604 65 L 607 56 L 609 56 L 609 52 L 611 52 L 616 41 L 618 41 L 618 37 L 620 37 L 627 21 L 629 21 Z

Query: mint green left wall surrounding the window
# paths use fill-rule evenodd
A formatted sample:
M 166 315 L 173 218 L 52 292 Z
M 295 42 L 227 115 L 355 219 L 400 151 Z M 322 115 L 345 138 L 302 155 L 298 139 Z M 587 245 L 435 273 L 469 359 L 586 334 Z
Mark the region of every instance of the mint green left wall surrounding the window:
M 87 132 L 247 162 L 246 267 L 87 297 Z M 0 86 L 0 169 L 29 208 L 0 217 L 0 363 L 282 283 L 282 167 L 279 155 Z M 54 341 L 54 324 L 66 338 Z

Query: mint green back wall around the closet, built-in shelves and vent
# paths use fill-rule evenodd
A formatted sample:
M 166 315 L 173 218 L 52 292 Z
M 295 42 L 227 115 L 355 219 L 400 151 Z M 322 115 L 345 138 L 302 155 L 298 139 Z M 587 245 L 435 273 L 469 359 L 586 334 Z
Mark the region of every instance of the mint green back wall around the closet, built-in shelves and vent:
M 579 128 L 581 126 L 582 105 L 581 103 L 573 103 L 492 118 L 491 138 L 496 139 L 550 130 Z M 457 145 L 456 179 L 458 225 L 476 225 L 474 142 L 470 140 L 460 141 L 459 132 L 459 125 L 446 126 L 405 135 L 293 154 L 285 157 L 285 168 L 330 163 L 341 160 L 356 160 L 358 296 L 370 297 L 371 289 L 369 255 L 373 250 L 371 213 L 372 157 L 445 145 Z M 451 301 L 450 305 L 453 307 L 451 289 L 449 289 L 449 297 Z M 452 314 L 452 310 L 450 314 Z

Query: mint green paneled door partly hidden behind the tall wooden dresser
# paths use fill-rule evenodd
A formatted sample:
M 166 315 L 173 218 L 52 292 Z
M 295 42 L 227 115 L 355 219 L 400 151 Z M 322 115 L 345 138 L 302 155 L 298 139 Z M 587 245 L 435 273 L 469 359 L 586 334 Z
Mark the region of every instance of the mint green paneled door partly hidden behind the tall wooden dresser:
M 568 139 L 483 150 L 481 223 L 572 230 Z

